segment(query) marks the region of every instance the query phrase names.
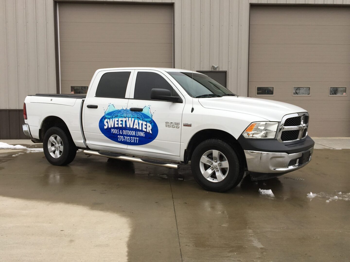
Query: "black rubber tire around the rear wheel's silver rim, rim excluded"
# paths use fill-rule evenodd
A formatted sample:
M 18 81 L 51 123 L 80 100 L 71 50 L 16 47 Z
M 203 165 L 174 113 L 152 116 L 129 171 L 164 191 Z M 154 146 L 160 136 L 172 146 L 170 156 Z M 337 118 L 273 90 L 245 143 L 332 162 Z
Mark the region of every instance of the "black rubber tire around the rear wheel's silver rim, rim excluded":
M 63 150 L 58 158 L 52 157 L 49 152 L 48 141 L 51 136 L 59 136 L 62 140 Z M 67 134 L 65 130 L 56 126 L 46 131 L 43 139 L 43 149 L 47 161 L 49 161 L 54 166 L 68 165 L 74 160 L 75 155 L 77 154 L 77 147 L 73 143 L 73 140 L 70 137 L 70 135 Z

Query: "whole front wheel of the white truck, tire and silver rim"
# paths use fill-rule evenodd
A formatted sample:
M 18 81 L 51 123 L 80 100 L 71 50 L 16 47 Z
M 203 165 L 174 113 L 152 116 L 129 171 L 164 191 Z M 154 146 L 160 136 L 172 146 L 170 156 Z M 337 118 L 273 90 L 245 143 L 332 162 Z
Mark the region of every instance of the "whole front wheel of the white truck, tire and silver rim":
M 236 187 L 244 174 L 235 150 L 219 139 L 206 140 L 195 148 L 191 169 L 201 187 L 215 192 Z

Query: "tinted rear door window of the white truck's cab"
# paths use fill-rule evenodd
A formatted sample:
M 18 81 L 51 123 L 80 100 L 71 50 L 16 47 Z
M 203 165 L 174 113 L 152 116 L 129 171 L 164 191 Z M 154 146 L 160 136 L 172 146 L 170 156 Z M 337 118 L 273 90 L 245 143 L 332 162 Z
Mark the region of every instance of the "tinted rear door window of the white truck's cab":
M 131 72 L 109 72 L 102 75 L 98 83 L 97 97 L 125 98 Z

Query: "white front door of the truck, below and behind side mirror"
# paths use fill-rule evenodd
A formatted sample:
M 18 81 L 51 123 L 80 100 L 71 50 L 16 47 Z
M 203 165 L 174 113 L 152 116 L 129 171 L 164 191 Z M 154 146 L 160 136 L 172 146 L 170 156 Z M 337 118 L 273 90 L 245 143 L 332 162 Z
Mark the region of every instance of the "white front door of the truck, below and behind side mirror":
M 173 103 L 151 99 L 152 88 L 168 89 L 173 96 L 180 96 L 183 103 Z M 130 92 L 128 109 L 142 110 L 146 124 L 139 126 L 142 131 L 141 143 L 128 145 L 128 152 L 162 157 L 167 155 L 177 159 L 180 156 L 180 139 L 184 98 L 174 84 L 161 72 L 155 70 L 135 70 Z

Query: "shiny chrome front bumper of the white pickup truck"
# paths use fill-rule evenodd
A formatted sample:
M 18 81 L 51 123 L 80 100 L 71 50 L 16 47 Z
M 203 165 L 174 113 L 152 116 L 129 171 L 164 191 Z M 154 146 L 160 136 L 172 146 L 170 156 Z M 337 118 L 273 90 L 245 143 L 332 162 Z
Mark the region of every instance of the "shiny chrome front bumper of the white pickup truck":
M 302 159 L 305 154 L 310 155 L 308 159 Z M 260 152 L 244 150 L 249 172 L 268 173 L 271 176 L 283 175 L 307 165 L 314 152 L 314 147 L 308 150 L 288 154 L 274 152 Z

